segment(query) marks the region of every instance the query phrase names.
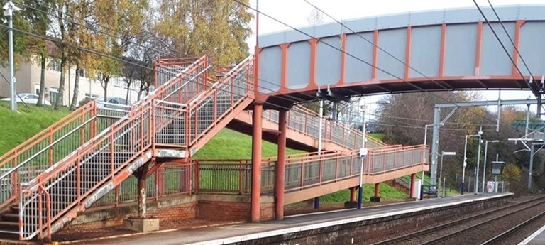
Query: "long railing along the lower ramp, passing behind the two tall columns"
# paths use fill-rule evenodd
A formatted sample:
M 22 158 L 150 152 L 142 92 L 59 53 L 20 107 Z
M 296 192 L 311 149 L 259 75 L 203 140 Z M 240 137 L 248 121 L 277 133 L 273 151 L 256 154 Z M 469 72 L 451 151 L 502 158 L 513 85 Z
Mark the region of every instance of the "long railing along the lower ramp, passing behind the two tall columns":
M 370 149 L 364 163 L 364 175 L 380 175 L 414 165 L 426 164 L 427 146 L 390 146 Z M 422 163 L 424 160 L 424 163 Z M 261 192 L 274 191 L 277 158 L 263 158 Z M 358 178 L 361 158 L 358 151 L 299 153 L 286 156 L 286 192 L 326 185 L 347 178 Z M 147 180 L 147 197 L 222 193 L 248 195 L 251 192 L 250 159 L 192 160 L 185 164 L 166 163 Z M 138 200 L 137 179 L 127 178 L 94 205 L 117 205 Z

